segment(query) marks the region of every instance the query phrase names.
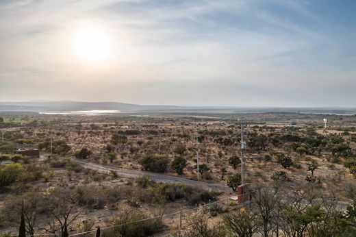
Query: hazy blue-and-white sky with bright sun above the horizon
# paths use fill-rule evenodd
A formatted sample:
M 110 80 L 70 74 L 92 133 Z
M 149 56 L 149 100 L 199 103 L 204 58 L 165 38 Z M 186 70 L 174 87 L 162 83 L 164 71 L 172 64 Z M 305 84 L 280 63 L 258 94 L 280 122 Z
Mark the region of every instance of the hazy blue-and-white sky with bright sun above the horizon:
M 356 106 L 356 1 L 0 0 L 0 101 Z

